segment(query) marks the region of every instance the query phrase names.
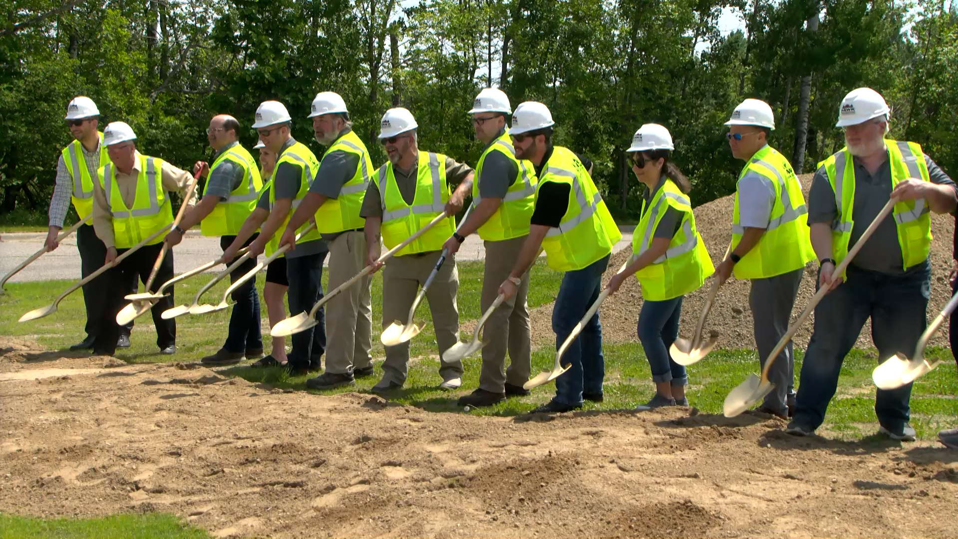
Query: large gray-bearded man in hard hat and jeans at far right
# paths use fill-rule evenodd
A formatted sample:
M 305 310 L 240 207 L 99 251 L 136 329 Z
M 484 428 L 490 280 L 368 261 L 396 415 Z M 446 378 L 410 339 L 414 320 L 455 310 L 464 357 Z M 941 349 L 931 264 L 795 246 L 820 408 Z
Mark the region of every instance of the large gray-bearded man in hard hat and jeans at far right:
M 928 212 L 953 212 L 958 197 L 955 183 L 921 146 L 885 139 L 890 112 L 871 88 L 857 88 L 845 96 L 836 127 L 845 129 L 846 147 L 820 163 L 812 180 L 809 224 L 820 264 L 818 286 L 832 283 L 833 290 L 815 309 L 788 434 L 812 434 L 822 424 L 842 361 L 865 320 L 872 320 L 878 358 L 911 356 L 924 332 L 931 288 Z M 892 215 L 833 282 L 835 266 L 892 197 L 899 200 Z M 879 433 L 915 440 L 915 430 L 908 425 L 910 396 L 911 384 L 878 389 Z

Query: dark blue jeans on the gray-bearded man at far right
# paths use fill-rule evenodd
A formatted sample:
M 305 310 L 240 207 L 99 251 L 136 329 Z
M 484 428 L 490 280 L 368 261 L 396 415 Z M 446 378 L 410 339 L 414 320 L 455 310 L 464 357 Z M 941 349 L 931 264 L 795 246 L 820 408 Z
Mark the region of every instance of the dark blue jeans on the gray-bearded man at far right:
M 825 410 L 838 386 L 841 363 L 869 317 L 878 361 L 900 352 L 906 357 L 915 353 L 927 324 L 924 311 L 931 291 L 930 276 L 927 261 L 898 276 L 849 267 L 847 280 L 815 308 L 814 332 L 802 363 L 793 421 L 817 429 L 825 420 Z M 911 384 L 878 389 L 878 423 L 892 433 L 901 433 L 910 417 L 910 398 Z

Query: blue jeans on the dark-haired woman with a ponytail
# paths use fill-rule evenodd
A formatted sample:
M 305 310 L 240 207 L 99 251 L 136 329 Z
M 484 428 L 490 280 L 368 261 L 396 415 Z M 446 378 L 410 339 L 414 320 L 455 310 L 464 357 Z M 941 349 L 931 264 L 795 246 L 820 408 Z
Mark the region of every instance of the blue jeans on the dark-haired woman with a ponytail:
M 638 333 L 646 350 L 652 371 L 652 382 L 672 382 L 673 386 L 685 386 L 689 377 L 685 366 L 672 361 L 669 347 L 678 337 L 678 321 L 682 315 L 682 297 L 664 301 L 646 301 L 639 313 Z

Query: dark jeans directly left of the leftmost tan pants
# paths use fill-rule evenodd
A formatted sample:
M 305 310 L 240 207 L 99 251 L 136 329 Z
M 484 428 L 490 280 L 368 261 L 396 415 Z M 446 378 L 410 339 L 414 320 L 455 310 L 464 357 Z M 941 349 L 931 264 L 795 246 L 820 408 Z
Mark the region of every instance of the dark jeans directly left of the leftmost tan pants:
M 286 299 L 290 316 L 308 312 L 323 297 L 323 261 L 327 254 L 328 251 L 323 251 L 286 257 L 286 279 L 289 281 Z M 316 311 L 316 321 L 316 325 L 290 338 L 293 349 L 286 356 L 290 368 L 319 368 L 326 352 L 326 313 L 322 307 Z

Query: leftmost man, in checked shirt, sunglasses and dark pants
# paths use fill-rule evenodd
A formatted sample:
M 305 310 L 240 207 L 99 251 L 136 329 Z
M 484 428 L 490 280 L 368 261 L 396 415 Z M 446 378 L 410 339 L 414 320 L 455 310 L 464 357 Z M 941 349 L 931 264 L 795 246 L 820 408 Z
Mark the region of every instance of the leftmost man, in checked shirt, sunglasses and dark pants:
M 103 145 L 103 133 L 97 128 L 100 124 L 100 110 L 93 100 L 78 96 L 67 105 L 66 124 L 73 135 L 57 161 L 57 184 L 54 196 L 50 199 L 50 228 L 45 246 L 52 251 L 59 246 L 57 236 L 63 228 L 70 204 L 77 210 L 80 220 L 93 211 L 93 185 L 97 180 L 97 170 L 109 162 L 106 146 Z M 80 276 L 86 277 L 103 266 L 106 246 L 97 237 L 93 224 L 86 223 L 77 229 L 77 250 L 80 251 Z M 70 346 L 71 350 L 90 350 L 93 341 L 100 333 L 100 321 L 105 308 L 104 294 L 100 291 L 103 279 L 98 278 L 83 285 L 83 304 L 86 307 L 86 338 Z M 130 293 L 136 292 L 136 286 L 130 287 Z M 118 348 L 129 348 L 129 333 L 133 329 L 130 321 L 120 329 Z

